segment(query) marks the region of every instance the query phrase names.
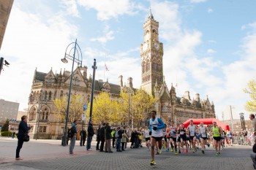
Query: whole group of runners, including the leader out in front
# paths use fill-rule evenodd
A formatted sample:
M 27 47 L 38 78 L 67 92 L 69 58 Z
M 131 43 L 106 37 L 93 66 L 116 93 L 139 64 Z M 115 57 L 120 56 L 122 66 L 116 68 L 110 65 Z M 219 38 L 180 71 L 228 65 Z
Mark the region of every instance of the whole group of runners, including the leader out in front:
M 156 164 L 154 161 L 155 150 L 157 151 L 156 155 L 159 155 L 162 154 L 162 148 L 165 148 L 167 152 L 175 150 L 175 154 L 178 155 L 178 153 L 181 153 L 181 149 L 182 152 L 185 152 L 185 147 L 186 152 L 188 152 L 189 147 L 192 148 L 192 152 L 196 152 L 200 143 L 201 151 L 205 154 L 206 145 L 210 146 L 210 134 L 213 138 L 213 147 L 216 150 L 216 155 L 219 156 L 221 145 L 224 144 L 222 143 L 224 142 L 224 131 L 216 122 L 213 122 L 213 127 L 210 130 L 203 123 L 200 123 L 199 126 L 194 125 L 193 120 L 190 121 L 187 128 L 184 128 L 183 123 L 178 127 L 173 122 L 170 125 L 165 125 L 156 115 L 156 111 L 151 111 L 151 119 L 148 123 L 149 128 L 146 127 L 145 130 L 146 146 L 148 150 L 151 150 L 151 166 Z

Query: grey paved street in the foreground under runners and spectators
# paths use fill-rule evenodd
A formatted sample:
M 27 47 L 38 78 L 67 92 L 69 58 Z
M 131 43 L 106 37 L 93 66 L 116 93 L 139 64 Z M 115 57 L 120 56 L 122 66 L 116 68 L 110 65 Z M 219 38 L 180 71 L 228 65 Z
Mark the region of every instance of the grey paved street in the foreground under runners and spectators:
M 200 151 L 179 155 L 163 151 L 156 155 L 157 165 L 150 166 L 151 156 L 146 147 L 125 152 L 87 152 L 77 141 L 75 154 L 69 155 L 69 147 L 60 143 L 42 139 L 24 142 L 20 151 L 23 161 L 15 161 L 17 139 L 0 137 L 0 169 L 253 169 L 249 158 L 252 147 L 243 145 L 227 147 L 219 157 L 212 148 L 207 148 L 205 155 Z

